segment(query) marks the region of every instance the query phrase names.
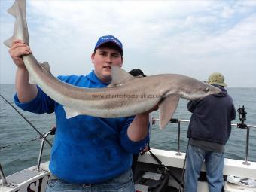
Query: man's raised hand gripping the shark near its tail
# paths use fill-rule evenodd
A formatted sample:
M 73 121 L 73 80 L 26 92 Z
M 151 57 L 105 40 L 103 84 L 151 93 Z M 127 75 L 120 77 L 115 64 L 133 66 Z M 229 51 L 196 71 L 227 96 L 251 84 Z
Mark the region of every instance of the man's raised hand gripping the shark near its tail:
M 11 59 L 14 60 L 14 63 L 17 67 L 26 68 L 23 59 L 21 59 L 21 56 L 29 55 L 30 53 L 32 53 L 32 50 L 30 50 L 30 47 L 24 44 L 23 41 L 21 41 L 20 39 L 16 39 L 12 42 L 9 53 L 11 55 Z

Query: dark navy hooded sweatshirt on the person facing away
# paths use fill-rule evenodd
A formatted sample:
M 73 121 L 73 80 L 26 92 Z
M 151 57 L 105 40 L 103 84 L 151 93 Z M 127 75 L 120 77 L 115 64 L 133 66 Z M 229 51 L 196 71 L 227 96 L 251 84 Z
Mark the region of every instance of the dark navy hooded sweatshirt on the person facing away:
M 220 88 L 221 93 L 187 103 L 188 111 L 193 113 L 187 137 L 225 145 L 230 137 L 231 120 L 236 118 L 236 109 L 227 90 L 213 85 Z

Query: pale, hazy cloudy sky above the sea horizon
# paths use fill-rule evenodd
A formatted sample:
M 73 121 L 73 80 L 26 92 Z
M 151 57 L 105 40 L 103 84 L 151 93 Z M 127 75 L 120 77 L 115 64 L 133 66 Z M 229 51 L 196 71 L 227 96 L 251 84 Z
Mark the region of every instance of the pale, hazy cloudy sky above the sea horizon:
M 0 0 L 0 84 L 17 67 L 3 41 L 13 35 L 12 0 Z M 256 87 L 256 1 L 27 0 L 30 47 L 53 75 L 86 75 L 102 35 L 123 43 L 123 69 L 178 73 L 206 81 L 221 72 L 229 87 Z

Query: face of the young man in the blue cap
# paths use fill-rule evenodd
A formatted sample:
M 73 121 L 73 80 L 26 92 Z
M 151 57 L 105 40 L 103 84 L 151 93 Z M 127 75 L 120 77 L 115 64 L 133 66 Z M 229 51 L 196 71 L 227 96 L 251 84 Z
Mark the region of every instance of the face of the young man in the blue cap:
M 108 47 L 100 47 L 91 56 L 94 72 L 103 82 L 111 81 L 111 66 L 122 66 L 123 57 L 120 52 Z

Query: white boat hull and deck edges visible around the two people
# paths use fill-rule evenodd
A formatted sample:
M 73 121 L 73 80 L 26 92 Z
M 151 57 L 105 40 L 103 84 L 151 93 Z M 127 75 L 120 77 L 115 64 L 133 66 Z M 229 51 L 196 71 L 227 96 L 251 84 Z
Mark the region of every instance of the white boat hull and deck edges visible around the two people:
M 168 166 L 169 170 L 177 177 L 181 178 L 181 172 L 185 159 L 185 154 L 177 155 L 175 151 L 165 151 L 160 149 L 151 149 L 151 151 Z M 153 169 L 158 163 L 150 153 L 139 155 L 139 163 L 137 169 Z M 250 165 L 244 165 L 242 160 L 225 159 L 224 175 L 235 175 L 241 178 L 250 178 L 256 180 L 256 162 L 248 162 Z M 50 176 L 48 169 L 49 162 L 41 163 L 42 172 L 36 170 L 36 166 L 17 172 L 7 177 L 8 187 L 0 185 L 0 192 L 26 192 L 38 191 L 44 192 L 47 186 L 47 180 Z M 202 168 L 205 172 L 205 166 Z M 25 180 L 25 181 L 23 181 Z M 0 181 L 1 184 L 1 181 Z M 169 186 L 178 188 L 178 183 L 171 177 L 169 178 Z M 256 187 L 241 187 L 235 184 L 229 184 L 225 181 L 225 191 L 227 192 L 256 192 Z M 208 184 L 206 181 L 198 181 L 198 192 L 208 192 Z

